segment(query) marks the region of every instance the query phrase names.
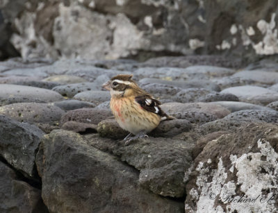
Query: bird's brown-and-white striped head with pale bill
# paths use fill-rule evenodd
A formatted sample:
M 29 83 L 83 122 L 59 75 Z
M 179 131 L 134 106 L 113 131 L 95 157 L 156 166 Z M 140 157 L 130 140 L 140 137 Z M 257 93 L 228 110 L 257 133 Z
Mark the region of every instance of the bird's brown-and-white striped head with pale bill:
M 102 87 L 109 90 L 112 97 L 129 96 L 136 90 L 140 90 L 136 82 L 131 79 L 132 77 L 132 75 L 120 74 L 108 80 Z

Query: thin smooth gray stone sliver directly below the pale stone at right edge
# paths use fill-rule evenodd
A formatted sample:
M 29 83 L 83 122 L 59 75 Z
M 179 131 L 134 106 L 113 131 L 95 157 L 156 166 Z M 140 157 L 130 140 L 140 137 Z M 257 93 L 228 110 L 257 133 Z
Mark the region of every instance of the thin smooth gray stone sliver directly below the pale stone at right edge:
M 231 112 L 240 110 L 270 110 L 270 108 L 264 107 L 262 105 L 255 105 L 252 103 L 245 103 L 240 101 L 216 101 L 213 103 L 222 105 L 222 107 L 227 108 Z

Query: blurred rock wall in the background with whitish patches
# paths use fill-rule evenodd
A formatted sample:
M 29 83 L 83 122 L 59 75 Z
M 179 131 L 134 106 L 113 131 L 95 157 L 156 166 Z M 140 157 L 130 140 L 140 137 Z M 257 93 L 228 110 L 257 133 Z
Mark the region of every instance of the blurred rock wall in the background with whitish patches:
M 276 0 L 0 0 L 0 60 L 278 53 Z

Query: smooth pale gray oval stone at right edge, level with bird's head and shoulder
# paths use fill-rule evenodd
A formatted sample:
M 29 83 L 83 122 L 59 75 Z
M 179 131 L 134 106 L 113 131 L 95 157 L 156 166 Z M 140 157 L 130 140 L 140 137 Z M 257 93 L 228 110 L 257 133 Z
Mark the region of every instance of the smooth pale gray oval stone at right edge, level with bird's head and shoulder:
M 256 86 L 230 87 L 220 92 L 221 94 L 230 93 L 238 96 L 238 99 L 247 103 L 267 105 L 278 99 L 278 92 Z

